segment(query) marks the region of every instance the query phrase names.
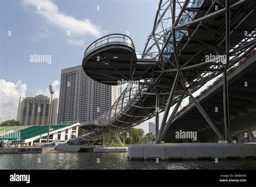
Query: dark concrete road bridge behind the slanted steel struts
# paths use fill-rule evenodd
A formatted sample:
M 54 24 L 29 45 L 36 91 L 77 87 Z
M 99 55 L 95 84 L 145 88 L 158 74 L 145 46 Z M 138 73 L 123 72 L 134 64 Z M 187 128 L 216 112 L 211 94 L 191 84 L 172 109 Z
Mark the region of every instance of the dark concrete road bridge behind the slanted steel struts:
M 256 129 L 255 75 L 256 49 L 241 61 L 239 66 L 232 68 L 227 75 L 231 136 Z M 223 77 L 202 91 L 197 100 L 220 133 L 224 135 Z M 183 140 L 175 139 L 175 132 L 179 130 L 197 131 L 197 142 L 218 141 L 218 136 L 211 130 L 193 102 L 184 107 L 172 122 L 167 124 L 163 140 L 165 142 L 182 142 Z M 193 140 L 191 141 L 193 142 Z

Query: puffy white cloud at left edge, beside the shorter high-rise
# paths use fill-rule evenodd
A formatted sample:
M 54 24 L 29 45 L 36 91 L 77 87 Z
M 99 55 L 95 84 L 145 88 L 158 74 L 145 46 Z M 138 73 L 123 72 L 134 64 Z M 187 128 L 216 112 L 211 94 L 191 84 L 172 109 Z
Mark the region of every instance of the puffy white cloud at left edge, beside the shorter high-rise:
M 26 84 L 22 84 L 20 80 L 18 82 L 6 82 L 5 80 L 0 80 L 0 121 L 8 120 L 9 112 L 10 119 L 17 118 L 19 96 L 26 95 Z

